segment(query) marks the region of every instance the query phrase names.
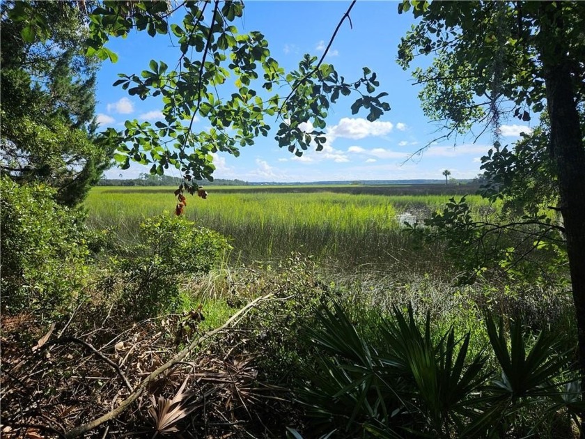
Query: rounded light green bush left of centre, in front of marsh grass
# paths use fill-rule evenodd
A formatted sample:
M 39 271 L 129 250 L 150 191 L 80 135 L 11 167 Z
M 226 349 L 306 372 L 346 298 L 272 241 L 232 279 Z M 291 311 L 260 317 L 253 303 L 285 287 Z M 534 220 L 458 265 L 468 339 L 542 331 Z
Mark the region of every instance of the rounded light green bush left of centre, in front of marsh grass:
M 209 272 L 230 245 L 221 234 L 168 213 L 146 219 L 137 256 L 114 260 L 114 273 L 125 279 L 126 311 L 148 318 L 179 307 L 180 284 L 189 275 Z

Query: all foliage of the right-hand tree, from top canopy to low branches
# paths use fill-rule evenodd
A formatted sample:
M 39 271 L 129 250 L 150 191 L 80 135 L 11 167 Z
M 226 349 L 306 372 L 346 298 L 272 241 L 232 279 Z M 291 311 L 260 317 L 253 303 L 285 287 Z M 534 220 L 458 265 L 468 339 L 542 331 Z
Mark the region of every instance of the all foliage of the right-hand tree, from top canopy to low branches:
M 421 20 L 401 40 L 398 62 L 409 68 L 416 55 L 435 57 L 430 67 L 414 68 L 413 74 L 423 85 L 420 97 L 426 114 L 445 123 L 444 137 L 465 134 L 481 123 L 491 125 L 499 139 L 500 118 L 510 115 L 530 121 L 531 113 L 540 116 L 540 126 L 524 134 L 515 146 L 496 141 L 482 157 L 487 181 L 481 194 L 501 201 L 502 215 L 471 221 L 464 212 L 465 202 L 451 201 L 430 220 L 429 225 L 436 228 L 430 235 L 451 242 L 451 255 L 463 255 L 453 260 L 461 260 L 471 279 L 473 272 L 492 268 L 530 282 L 568 279 L 561 269 L 568 265 L 566 242 L 582 242 L 585 224 L 578 201 L 582 197 L 575 197 L 577 202 L 572 198 L 582 192 L 578 186 L 584 149 L 579 125 L 585 126 L 585 117 L 582 105 L 575 102 L 582 102 L 585 88 L 582 81 L 570 80 L 584 73 L 583 64 L 577 62 L 585 49 L 583 4 L 405 0 L 398 5 L 399 13 L 408 10 Z M 570 97 L 553 117 L 551 93 L 558 88 L 552 86 L 549 72 L 563 69 L 567 75 L 560 82 L 568 83 Z M 553 135 L 569 130 L 574 143 Z M 561 187 L 565 187 L 565 201 L 560 199 Z M 561 210 L 575 218 L 571 224 L 578 225 L 572 231 L 560 222 Z M 578 252 L 579 247 L 573 248 Z M 575 254 L 573 259 L 582 257 Z

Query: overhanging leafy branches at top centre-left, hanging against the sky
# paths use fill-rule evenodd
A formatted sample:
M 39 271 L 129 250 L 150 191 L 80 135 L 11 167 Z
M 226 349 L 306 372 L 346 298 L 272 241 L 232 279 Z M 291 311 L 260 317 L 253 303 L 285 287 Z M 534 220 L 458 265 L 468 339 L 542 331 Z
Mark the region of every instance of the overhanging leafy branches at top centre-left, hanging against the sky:
M 179 48 L 175 68 L 151 60 L 147 70 L 120 73 L 114 82 L 141 100 L 159 97 L 164 103 L 164 121 L 127 121 L 125 130 L 109 128 L 103 133 L 104 139 L 120 145 L 115 158 L 123 169 L 131 161 L 152 164 L 151 174 L 158 175 L 175 167 L 187 185 L 196 187 L 195 180 L 212 180 L 212 153 L 239 155 L 255 137 L 268 135 L 268 118 L 279 124 L 279 146 L 300 156 L 309 144 L 322 149 L 325 118 L 340 94 L 359 94 L 352 113 L 367 109 L 370 121 L 390 109 L 381 100 L 387 93 L 375 93 L 380 84 L 368 68 L 363 77 L 347 81 L 323 58 L 306 54 L 297 70 L 285 72 L 263 33 L 240 33 L 234 25 L 244 13 L 242 1 L 187 2 L 181 10 L 182 20 L 170 26 L 169 4 L 164 1 L 104 2 L 89 12 L 87 53 L 100 59 L 114 61 L 115 54 L 104 43 L 132 29 L 146 30 L 152 37 L 164 35 Z M 228 98 L 219 98 L 222 87 L 228 89 Z M 208 119 L 212 128 L 192 130 L 196 117 Z M 304 123 L 313 130 L 302 130 Z

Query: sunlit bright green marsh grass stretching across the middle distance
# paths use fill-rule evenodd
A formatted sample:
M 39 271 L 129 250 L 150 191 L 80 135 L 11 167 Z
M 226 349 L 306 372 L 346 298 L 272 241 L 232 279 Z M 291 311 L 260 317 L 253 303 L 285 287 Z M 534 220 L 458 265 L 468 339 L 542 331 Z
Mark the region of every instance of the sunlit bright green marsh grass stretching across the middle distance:
M 137 239 L 146 217 L 175 208 L 175 188 L 95 187 L 86 201 L 88 224 L 110 228 L 124 245 Z M 367 195 L 332 192 L 226 193 L 210 190 L 208 199 L 187 197 L 185 215 L 231 238 L 234 258 L 279 259 L 290 252 L 316 256 L 343 266 L 376 263 L 432 270 L 444 265 L 440 243 L 424 252 L 398 223 L 405 211 L 429 215 L 449 195 Z M 476 214 L 486 210 L 480 197 L 468 198 Z M 422 257 L 421 257 L 422 256 Z M 437 267 L 435 267 L 437 265 Z

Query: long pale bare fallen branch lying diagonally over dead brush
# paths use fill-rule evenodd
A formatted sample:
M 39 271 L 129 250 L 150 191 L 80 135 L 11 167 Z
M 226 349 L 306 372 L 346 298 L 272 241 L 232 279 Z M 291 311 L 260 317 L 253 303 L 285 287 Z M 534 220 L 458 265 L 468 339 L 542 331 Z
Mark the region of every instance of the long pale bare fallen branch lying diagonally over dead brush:
M 122 403 L 120 403 L 120 405 L 117 408 L 98 417 L 98 419 L 94 419 L 93 421 L 88 422 L 87 424 L 82 424 L 78 427 L 75 427 L 75 429 L 72 429 L 71 431 L 69 431 L 68 433 L 65 434 L 65 438 L 68 438 L 68 439 L 77 438 L 78 436 L 81 436 L 82 434 L 87 433 L 88 431 L 95 429 L 95 427 L 100 426 L 104 422 L 107 422 L 111 419 L 114 419 L 115 417 L 120 415 L 120 413 L 123 413 L 124 410 L 126 410 L 128 407 L 130 407 L 130 404 L 132 404 L 140 396 L 142 391 L 146 388 L 146 386 L 148 386 L 148 383 L 150 383 L 155 378 L 157 378 L 157 376 L 159 376 L 161 373 L 166 371 L 166 369 L 169 369 L 170 367 L 173 367 L 175 364 L 181 362 L 183 360 L 183 358 L 185 358 L 189 353 L 191 353 L 191 351 L 193 351 L 194 348 L 196 348 L 198 345 L 203 343 L 203 341 L 205 341 L 205 339 L 208 339 L 209 337 L 212 337 L 214 334 L 217 334 L 218 332 L 221 332 L 222 330 L 228 328 L 228 326 L 231 325 L 231 323 L 233 323 L 233 321 L 237 320 L 237 318 L 240 318 L 245 313 L 247 313 L 247 311 L 249 311 L 251 308 L 255 307 L 258 304 L 258 302 L 265 300 L 267 298 L 270 298 L 270 296 L 272 296 L 272 293 L 267 294 L 267 295 L 263 295 L 260 298 L 252 300 L 251 302 L 249 302 L 248 305 L 246 305 L 245 307 L 240 309 L 240 311 L 237 311 L 237 313 L 235 313 L 233 316 L 231 316 L 231 318 L 229 318 L 228 321 L 226 321 L 226 323 L 221 325 L 219 328 L 216 328 L 216 329 L 211 330 L 209 332 L 205 332 L 205 334 L 203 334 L 198 339 L 194 339 L 189 344 L 189 346 L 184 348 L 177 355 L 175 355 L 173 358 L 171 358 L 171 360 L 164 363 L 161 367 L 159 367 L 155 371 L 151 372 L 150 375 L 148 375 L 146 378 L 144 378 L 144 380 L 139 385 L 137 385 L 137 387 L 134 389 L 134 391 Z

